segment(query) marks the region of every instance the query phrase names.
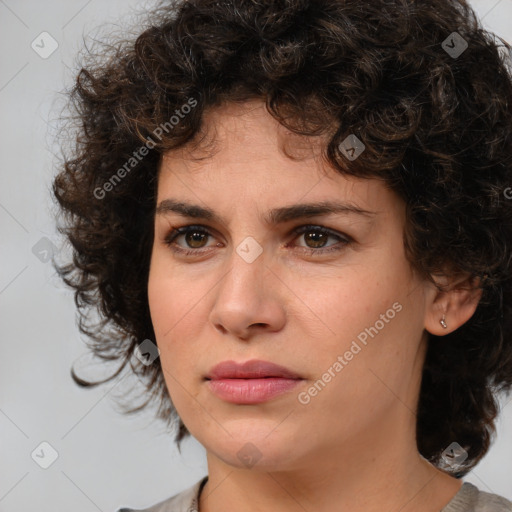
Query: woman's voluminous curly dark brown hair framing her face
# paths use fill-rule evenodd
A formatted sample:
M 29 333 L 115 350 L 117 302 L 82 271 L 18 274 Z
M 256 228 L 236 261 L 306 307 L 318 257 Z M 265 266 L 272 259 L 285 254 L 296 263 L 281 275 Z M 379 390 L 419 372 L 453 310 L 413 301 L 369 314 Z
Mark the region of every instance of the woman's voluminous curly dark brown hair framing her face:
M 148 20 L 138 37 L 89 52 L 67 91 L 76 137 L 52 193 L 73 260 L 54 266 L 94 355 L 120 363 L 107 379 L 73 379 L 98 385 L 129 364 L 146 401 L 124 412 L 156 399 L 158 418 L 179 421 L 178 447 L 189 435 L 160 359 L 133 357 L 155 340 L 160 158 L 194 142 L 206 109 L 260 99 L 294 133 L 327 134 L 322 156 L 340 174 L 379 178 L 404 199 L 404 247 L 421 276 L 469 275 L 482 288 L 470 320 L 429 334 L 417 410 L 421 455 L 442 467 L 457 441 L 469 456 L 454 475 L 466 474 L 512 386 L 511 47 L 466 0 L 169 0 Z M 342 150 L 348 135 L 365 145 L 357 159 Z

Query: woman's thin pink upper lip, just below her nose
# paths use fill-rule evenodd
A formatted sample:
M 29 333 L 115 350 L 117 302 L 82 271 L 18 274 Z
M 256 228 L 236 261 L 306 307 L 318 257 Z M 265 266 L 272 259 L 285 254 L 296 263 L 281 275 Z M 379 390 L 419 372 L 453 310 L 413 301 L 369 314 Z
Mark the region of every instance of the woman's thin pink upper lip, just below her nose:
M 236 361 L 223 361 L 215 365 L 208 375 L 207 379 L 258 379 L 265 377 L 280 377 L 287 379 L 301 379 L 292 370 L 284 366 L 271 363 L 269 361 L 261 361 L 252 359 L 245 363 L 237 363 Z

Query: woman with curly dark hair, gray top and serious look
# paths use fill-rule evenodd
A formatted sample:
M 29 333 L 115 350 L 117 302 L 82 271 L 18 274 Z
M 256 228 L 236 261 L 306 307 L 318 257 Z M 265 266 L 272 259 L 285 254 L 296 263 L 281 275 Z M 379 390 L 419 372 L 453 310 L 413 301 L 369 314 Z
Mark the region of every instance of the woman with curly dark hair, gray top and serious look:
M 182 1 L 111 50 L 58 271 L 206 449 L 145 510 L 512 510 L 461 480 L 512 386 L 512 78 L 468 4 Z

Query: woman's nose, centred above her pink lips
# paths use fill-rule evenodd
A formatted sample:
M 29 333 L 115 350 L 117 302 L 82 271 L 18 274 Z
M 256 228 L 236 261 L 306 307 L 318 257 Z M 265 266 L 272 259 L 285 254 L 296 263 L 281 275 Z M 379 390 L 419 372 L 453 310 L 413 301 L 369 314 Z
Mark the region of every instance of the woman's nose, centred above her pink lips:
M 267 260 L 264 252 L 251 261 L 233 250 L 229 269 L 214 288 L 209 315 L 222 334 L 248 340 L 257 333 L 283 328 L 287 288 Z

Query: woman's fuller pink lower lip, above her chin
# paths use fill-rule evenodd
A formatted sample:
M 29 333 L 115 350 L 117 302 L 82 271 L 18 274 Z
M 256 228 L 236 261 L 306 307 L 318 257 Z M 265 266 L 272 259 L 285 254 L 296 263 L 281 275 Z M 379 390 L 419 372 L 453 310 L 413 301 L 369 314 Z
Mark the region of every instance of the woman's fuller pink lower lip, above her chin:
M 218 379 L 209 380 L 211 391 L 234 404 L 258 404 L 293 389 L 302 379 Z

